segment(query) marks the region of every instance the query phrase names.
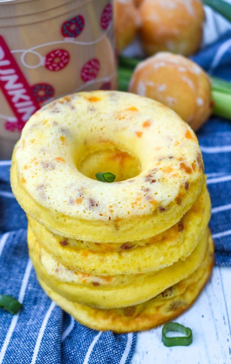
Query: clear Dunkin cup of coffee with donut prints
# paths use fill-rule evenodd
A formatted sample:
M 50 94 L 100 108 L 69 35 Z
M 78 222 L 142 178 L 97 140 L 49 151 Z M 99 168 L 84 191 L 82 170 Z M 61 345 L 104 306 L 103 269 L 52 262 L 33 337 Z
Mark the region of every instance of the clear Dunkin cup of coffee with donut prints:
M 109 0 L 0 0 L 0 159 L 44 103 L 116 87 Z

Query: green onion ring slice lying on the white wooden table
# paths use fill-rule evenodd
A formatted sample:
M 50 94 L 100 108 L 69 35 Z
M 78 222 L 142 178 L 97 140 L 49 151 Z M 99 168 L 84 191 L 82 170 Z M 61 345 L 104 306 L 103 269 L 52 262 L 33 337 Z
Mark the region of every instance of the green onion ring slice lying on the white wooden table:
M 169 337 L 170 331 L 181 332 L 185 336 Z M 192 330 L 176 322 L 168 322 L 162 328 L 162 341 L 165 346 L 188 346 L 192 343 Z

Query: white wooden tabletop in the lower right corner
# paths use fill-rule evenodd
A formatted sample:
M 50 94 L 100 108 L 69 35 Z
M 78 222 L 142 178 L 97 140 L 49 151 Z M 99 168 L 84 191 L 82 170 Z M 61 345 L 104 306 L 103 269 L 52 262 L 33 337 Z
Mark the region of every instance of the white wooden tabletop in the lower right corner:
M 132 364 L 231 364 L 231 268 L 215 267 L 195 304 L 173 321 L 192 329 L 192 344 L 165 347 L 162 326 L 141 332 Z

